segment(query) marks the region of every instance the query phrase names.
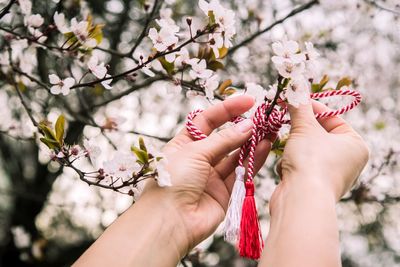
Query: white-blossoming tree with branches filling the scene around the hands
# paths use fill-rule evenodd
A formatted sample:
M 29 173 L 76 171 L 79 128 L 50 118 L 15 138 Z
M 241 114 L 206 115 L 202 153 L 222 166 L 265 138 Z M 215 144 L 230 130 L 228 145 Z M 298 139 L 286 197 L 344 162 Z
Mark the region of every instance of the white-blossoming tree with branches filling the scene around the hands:
M 145 180 L 171 186 L 159 151 L 194 108 L 244 93 L 280 108 L 308 102 L 310 92 L 356 89 L 365 100 L 347 118 L 372 163 L 338 207 L 344 265 L 394 266 L 394 2 L 0 0 L 2 263 L 70 264 Z M 287 134 L 283 127 L 257 180 L 260 206 Z M 268 214 L 260 218 L 266 228 Z M 253 266 L 220 236 L 182 265 Z

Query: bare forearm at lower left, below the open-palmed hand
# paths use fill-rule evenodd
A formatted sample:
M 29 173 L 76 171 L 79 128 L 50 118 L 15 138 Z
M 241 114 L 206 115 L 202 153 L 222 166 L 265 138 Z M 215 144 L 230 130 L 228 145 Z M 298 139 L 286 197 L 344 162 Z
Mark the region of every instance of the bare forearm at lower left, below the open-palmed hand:
M 178 240 L 183 235 L 175 215 L 162 194 L 143 195 L 74 266 L 176 266 L 187 242 Z

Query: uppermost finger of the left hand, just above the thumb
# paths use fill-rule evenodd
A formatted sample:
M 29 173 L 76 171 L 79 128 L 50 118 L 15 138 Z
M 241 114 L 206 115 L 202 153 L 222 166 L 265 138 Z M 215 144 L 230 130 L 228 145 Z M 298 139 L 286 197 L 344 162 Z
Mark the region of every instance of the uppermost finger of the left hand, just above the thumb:
M 194 118 L 193 123 L 204 134 L 209 135 L 213 130 L 224 123 L 248 111 L 254 105 L 254 97 L 249 95 L 240 95 L 228 98 L 204 110 Z M 177 135 L 190 142 L 193 140 L 186 128 L 182 129 Z

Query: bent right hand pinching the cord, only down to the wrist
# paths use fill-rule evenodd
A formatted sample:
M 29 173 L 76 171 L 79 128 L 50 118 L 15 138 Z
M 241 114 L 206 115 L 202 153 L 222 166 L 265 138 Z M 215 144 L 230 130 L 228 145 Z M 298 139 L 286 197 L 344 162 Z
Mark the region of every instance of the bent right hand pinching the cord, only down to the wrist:
M 329 109 L 317 101 L 297 109 L 289 107 L 292 127 L 278 172 L 285 183 L 309 185 L 338 201 L 354 184 L 369 152 L 343 119 L 317 121 L 314 113 L 324 111 Z

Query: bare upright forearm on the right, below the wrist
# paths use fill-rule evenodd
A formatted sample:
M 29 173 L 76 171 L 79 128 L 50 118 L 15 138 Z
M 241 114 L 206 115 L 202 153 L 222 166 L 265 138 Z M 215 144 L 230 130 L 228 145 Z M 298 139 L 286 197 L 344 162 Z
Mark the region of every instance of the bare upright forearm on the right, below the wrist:
M 285 181 L 271 211 L 260 266 L 338 267 L 339 233 L 333 194 L 297 180 Z

